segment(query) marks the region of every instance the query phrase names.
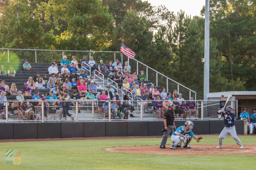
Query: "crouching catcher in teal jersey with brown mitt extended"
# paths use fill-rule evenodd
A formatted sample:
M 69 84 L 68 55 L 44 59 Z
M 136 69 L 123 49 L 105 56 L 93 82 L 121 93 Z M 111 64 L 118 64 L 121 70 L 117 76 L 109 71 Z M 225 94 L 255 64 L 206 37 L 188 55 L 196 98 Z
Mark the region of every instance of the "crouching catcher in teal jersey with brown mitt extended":
M 172 146 L 170 149 L 177 149 L 177 146 L 180 147 L 180 143 L 184 141 L 182 148 L 190 149 L 191 146 L 188 146 L 189 142 L 191 141 L 192 137 L 196 139 L 197 142 L 200 142 L 203 137 L 196 136 L 191 131 L 193 129 L 194 123 L 191 121 L 185 122 L 185 126 L 180 126 L 176 129 L 175 132 L 172 133 Z

